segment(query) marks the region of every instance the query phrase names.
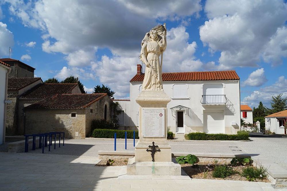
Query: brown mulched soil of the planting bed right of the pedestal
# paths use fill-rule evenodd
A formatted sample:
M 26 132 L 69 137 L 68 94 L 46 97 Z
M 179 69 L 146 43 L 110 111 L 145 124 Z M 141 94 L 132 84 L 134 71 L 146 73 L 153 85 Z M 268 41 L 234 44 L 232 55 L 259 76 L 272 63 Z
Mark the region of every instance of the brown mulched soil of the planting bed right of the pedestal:
M 212 176 L 212 171 L 214 169 L 214 165 L 224 165 L 224 162 L 217 162 L 215 164 L 212 161 L 199 161 L 198 163 L 191 165 L 191 164 L 181 164 L 181 169 L 185 171 L 185 173 L 190 178 L 204 178 L 204 171 L 206 172 L 208 169 L 208 173 L 206 179 L 214 179 L 214 180 L 240 180 L 240 181 L 248 181 L 245 177 L 241 176 L 242 169 L 245 166 L 232 166 L 232 169 L 236 171 L 236 174 L 228 176 L 226 178 L 214 178 Z M 256 179 L 256 182 L 270 182 L 268 179 Z

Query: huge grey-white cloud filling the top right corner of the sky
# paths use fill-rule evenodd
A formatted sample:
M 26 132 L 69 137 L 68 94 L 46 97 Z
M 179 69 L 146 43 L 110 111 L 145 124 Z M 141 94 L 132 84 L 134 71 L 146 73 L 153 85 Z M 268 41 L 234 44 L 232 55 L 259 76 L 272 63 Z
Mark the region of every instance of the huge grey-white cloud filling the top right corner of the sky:
M 278 32 L 287 19 L 287 6 L 283 0 L 208 0 L 205 12 L 210 20 L 199 28 L 200 39 L 209 46 L 210 52 L 221 52 L 221 69 L 256 67 L 261 55 L 268 52 L 265 47 L 272 44 L 272 38 L 274 42 L 286 40 L 285 32 L 284 35 Z M 267 47 L 278 46 L 273 44 Z M 278 63 L 282 56 L 282 51 L 269 51 L 265 61 Z

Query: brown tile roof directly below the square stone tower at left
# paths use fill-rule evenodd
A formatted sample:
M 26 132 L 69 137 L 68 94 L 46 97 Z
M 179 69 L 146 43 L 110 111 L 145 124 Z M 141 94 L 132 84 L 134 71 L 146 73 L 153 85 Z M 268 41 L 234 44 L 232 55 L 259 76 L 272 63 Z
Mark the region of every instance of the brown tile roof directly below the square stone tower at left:
M 41 78 L 8 78 L 8 90 L 20 90 Z M 42 81 L 43 82 L 43 81 Z

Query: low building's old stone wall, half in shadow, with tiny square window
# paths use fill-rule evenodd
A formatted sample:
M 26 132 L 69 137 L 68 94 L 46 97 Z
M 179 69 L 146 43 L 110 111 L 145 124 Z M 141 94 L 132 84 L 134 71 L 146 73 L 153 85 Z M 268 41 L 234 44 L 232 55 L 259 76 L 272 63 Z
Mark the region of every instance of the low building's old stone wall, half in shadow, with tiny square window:
M 71 117 L 72 112 L 76 117 Z M 84 139 L 85 115 L 86 109 L 25 110 L 26 134 L 63 131 L 67 138 Z

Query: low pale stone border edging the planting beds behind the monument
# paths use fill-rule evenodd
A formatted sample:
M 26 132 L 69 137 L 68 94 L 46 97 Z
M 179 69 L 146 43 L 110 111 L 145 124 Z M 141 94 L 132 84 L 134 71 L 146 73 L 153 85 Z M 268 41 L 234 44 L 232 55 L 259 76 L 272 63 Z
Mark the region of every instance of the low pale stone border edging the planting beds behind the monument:
M 173 157 L 186 156 L 190 153 L 174 152 Z M 287 170 L 280 167 L 277 163 L 271 162 L 268 159 L 258 157 L 255 154 L 220 154 L 220 153 L 192 153 L 202 160 L 218 160 L 230 162 L 232 158 L 251 157 L 254 166 L 262 166 L 268 174 L 268 179 L 272 182 L 275 189 L 287 189 Z M 131 158 L 134 157 L 134 151 L 98 151 L 99 159 L 109 158 Z

